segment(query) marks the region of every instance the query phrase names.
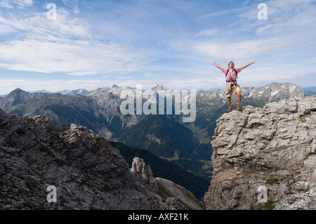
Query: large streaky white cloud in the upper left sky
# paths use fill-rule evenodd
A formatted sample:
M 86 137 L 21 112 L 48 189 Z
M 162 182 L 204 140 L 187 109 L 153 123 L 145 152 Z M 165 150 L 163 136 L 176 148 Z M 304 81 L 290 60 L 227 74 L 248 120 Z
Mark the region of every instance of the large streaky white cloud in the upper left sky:
M 88 23 L 60 8 L 57 20 L 45 13 L 29 18 L 3 18 L 5 33 L 19 36 L 0 44 L 0 67 L 72 75 L 133 72 L 141 56 L 133 48 L 97 39 Z

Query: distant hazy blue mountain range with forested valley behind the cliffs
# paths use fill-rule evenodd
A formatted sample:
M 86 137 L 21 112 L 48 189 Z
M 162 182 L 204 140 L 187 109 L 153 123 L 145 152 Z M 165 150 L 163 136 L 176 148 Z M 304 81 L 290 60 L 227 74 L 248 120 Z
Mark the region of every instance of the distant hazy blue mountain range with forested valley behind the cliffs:
M 20 88 L 0 98 L 0 108 L 20 117 L 39 114 L 51 117 L 55 124 L 79 124 L 110 140 L 130 147 L 146 149 L 188 171 L 211 178 L 211 137 L 216 120 L 228 109 L 223 90 L 197 91 L 196 118 L 183 123 L 183 114 L 121 114 L 121 91 L 136 88 L 119 86 L 94 91 L 28 93 Z M 161 84 L 151 91 L 167 90 Z M 242 106 L 263 107 L 266 103 L 308 95 L 291 83 L 272 83 L 261 88 L 242 88 Z M 143 103 L 145 103 L 143 98 Z M 235 107 L 236 98 L 232 105 Z M 173 105 L 174 107 L 174 105 Z

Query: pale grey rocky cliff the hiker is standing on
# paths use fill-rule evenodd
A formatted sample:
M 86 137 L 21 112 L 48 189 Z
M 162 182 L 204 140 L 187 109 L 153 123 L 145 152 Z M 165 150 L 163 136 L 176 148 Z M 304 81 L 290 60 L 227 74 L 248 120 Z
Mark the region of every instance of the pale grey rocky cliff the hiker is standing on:
M 316 209 L 316 96 L 217 121 L 207 209 Z

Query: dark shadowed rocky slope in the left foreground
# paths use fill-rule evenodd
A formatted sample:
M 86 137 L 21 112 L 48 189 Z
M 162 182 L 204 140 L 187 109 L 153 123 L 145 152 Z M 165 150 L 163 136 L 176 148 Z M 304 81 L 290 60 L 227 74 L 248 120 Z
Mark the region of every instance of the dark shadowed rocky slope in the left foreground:
M 156 183 L 150 168 L 146 171 L 148 183 Z M 170 190 L 151 188 L 146 181 L 109 140 L 84 126 L 56 126 L 50 117 L 15 117 L 0 110 L 1 209 L 193 208 L 176 195 L 161 197 Z M 48 202 L 48 186 L 55 187 L 57 202 Z

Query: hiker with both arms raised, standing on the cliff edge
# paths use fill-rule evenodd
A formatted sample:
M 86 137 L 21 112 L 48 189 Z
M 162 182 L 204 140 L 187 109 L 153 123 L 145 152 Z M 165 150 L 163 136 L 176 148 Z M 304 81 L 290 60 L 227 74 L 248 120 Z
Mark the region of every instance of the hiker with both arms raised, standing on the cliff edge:
M 242 90 L 240 86 L 237 84 L 237 74 L 239 72 L 242 72 L 242 70 L 245 67 L 248 67 L 251 64 L 254 64 L 254 62 L 249 62 L 249 64 L 244 65 L 242 67 L 237 67 L 235 69 L 234 62 L 228 63 L 228 69 L 220 67 L 220 65 L 216 65 L 215 61 L 211 62 L 214 66 L 218 67 L 224 74 L 226 75 L 226 86 L 225 86 L 225 94 L 228 101 L 228 111 L 232 111 L 232 95 L 237 94 L 238 95 L 238 103 L 237 103 L 237 110 L 242 111 L 242 107 L 240 107 L 240 103 L 242 102 Z

